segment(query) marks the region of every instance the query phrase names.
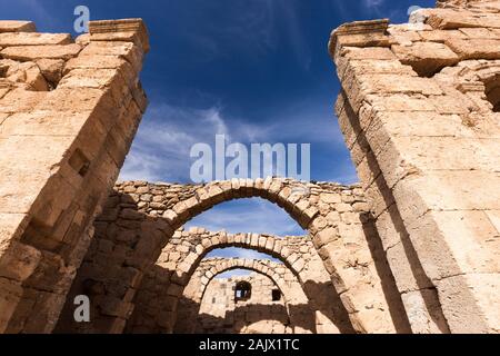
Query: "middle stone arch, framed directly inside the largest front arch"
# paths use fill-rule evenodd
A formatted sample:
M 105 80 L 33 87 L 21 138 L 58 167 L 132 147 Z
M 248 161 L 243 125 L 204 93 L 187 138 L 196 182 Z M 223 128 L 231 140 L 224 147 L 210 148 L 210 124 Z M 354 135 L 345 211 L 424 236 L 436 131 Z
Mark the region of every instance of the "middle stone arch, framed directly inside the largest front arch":
M 197 267 L 207 253 L 224 247 L 253 249 L 280 259 L 300 283 L 302 294 L 307 295 L 306 304 L 310 303 L 312 309 L 323 316 L 321 323 L 324 330 L 353 330 L 347 310 L 310 237 L 233 235 L 224 231 L 210 233 L 196 227 L 189 231 L 176 231 L 161 251 L 154 268 L 148 273 L 139 287 L 128 329 L 143 330 L 146 327 L 171 330 L 176 317 L 178 318 L 179 297 L 176 291 L 184 290 L 188 284 L 192 284 Z M 148 320 L 148 315 L 152 320 Z

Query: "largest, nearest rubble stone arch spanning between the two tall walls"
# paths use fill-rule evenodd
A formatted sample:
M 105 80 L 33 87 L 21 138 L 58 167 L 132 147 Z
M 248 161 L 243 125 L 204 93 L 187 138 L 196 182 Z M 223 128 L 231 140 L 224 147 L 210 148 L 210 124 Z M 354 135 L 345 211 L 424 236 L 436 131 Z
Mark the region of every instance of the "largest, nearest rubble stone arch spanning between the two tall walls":
M 86 332 L 122 329 L 133 310 L 142 277 L 154 266 L 174 229 L 216 204 L 259 196 L 281 206 L 309 230 L 354 329 L 393 333 L 389 297 L 368 244 L 371 229 L 366 226 L 369 221 L 362 190 L 358 186 L 284 178 L 206 185 L 117 184 L 94 224 L 97 238 L 70 294 L 96 294 L 99 326 L 94 329 L 94 325 L 76 325 L 68 301 L 60 324 L 69 322 L 72 325 L 64 325 L 64 329 Z M 109 264 L 112 266 L 106 271 L 97 268 Z M 180 288 L 174 294 L 179 296 Z

